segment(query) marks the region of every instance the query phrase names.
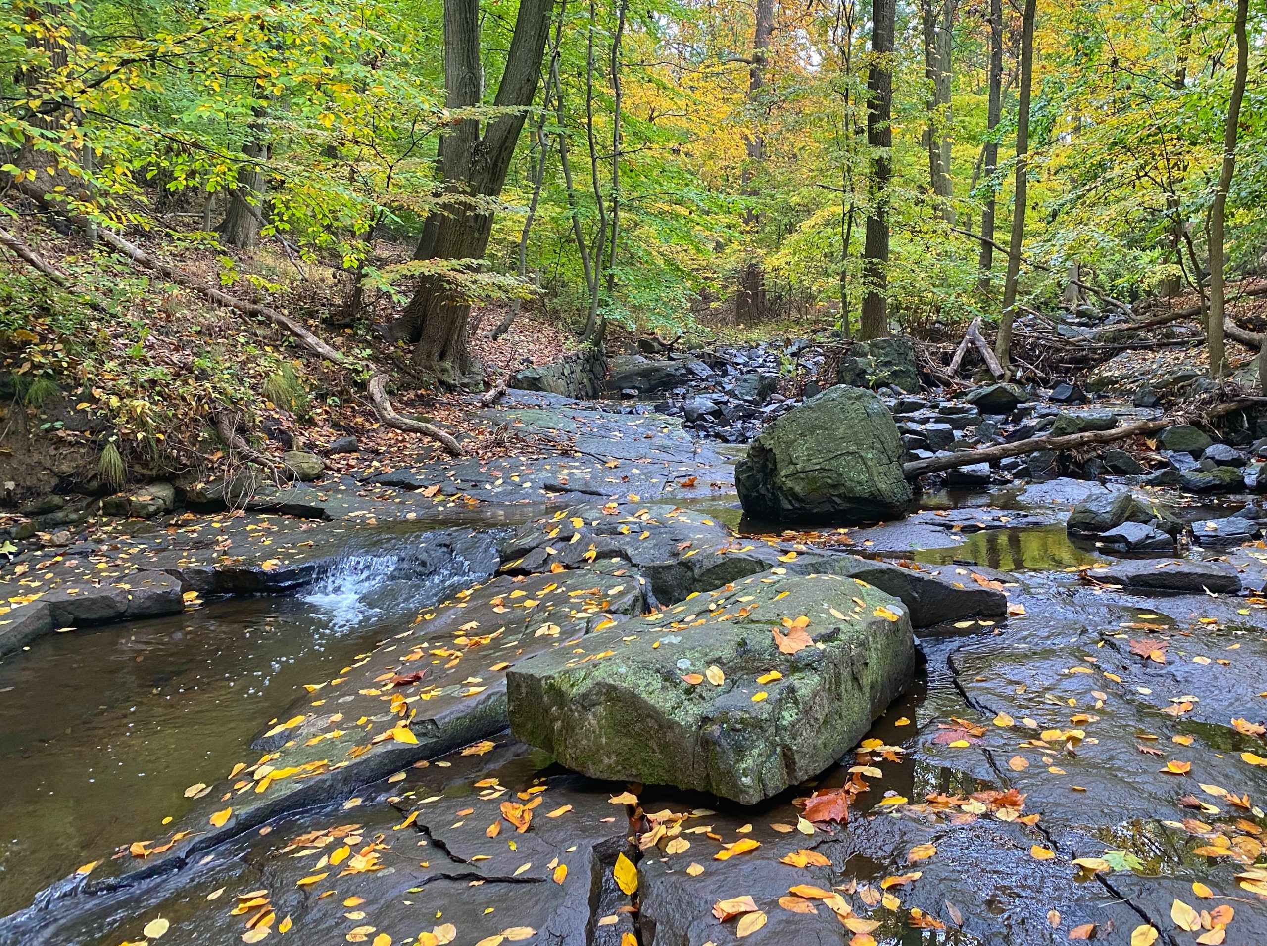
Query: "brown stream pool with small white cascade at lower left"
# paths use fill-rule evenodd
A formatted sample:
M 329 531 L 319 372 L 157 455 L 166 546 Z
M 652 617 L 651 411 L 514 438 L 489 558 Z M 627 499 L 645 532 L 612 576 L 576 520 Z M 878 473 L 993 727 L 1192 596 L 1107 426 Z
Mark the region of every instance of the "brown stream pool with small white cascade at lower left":
M 119 843 L 155 837 L 304 683 L 476 576 L 418 574 L 426 542 L 350 553 L 302 596 L 81 629 L 0 664 L 0 916 Z M 257 754 L 256 754 L 257 755 Z

